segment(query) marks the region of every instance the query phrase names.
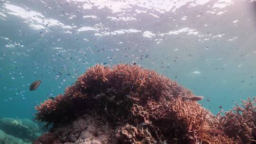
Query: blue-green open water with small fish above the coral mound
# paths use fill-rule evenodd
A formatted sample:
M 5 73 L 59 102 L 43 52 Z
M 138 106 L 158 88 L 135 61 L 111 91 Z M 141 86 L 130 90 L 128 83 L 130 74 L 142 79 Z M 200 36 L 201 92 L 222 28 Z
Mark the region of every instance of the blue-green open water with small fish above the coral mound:
M 136 62 L 227 111 L 256 95 L 255 39 L 254 0 L 0 0 L 0 117 L 33 118 L 96 63 Z

